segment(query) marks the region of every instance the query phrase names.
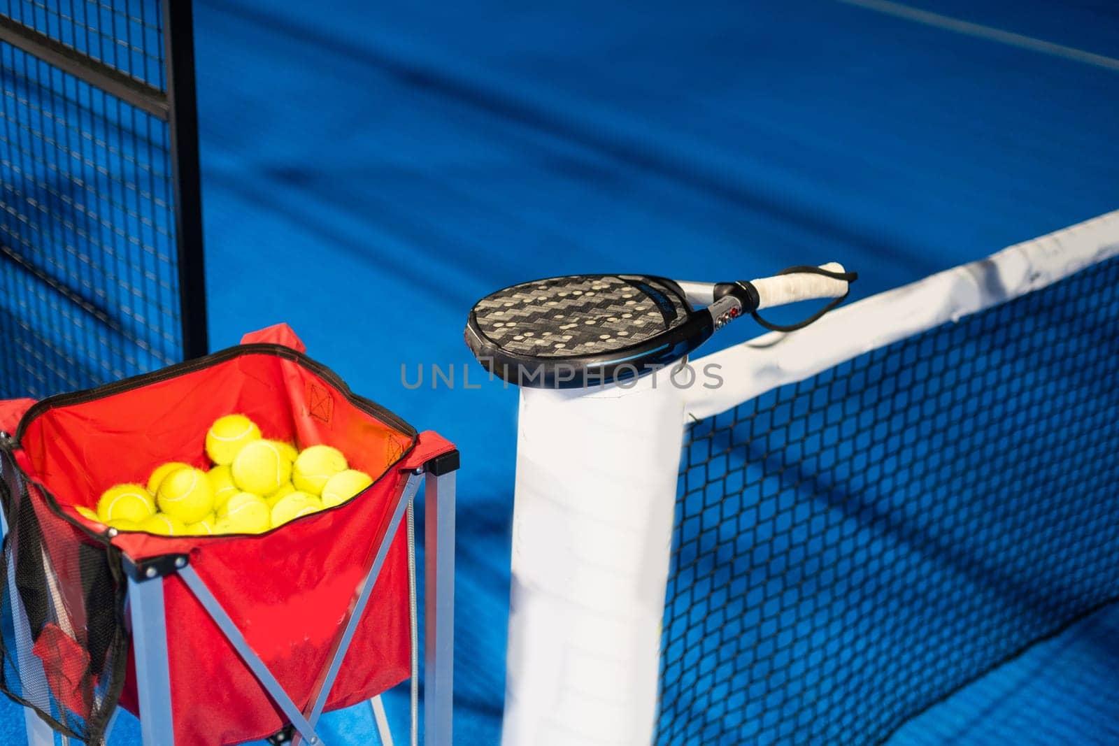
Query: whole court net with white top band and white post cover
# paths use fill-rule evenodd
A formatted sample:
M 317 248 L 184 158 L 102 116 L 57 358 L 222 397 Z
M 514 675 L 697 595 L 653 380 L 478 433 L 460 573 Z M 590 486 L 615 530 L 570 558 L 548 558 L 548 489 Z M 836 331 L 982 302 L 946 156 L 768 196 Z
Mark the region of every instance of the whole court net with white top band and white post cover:
M 717 388 L 524 389 L 506 743 L 882 743 L 1119 601 L 1117 283 L 1113 213 Z

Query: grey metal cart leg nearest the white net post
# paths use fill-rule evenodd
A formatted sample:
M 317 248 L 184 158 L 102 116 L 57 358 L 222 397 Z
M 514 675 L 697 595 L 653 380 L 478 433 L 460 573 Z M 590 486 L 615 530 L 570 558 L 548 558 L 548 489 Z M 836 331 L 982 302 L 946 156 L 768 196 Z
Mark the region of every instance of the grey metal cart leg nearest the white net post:
M 450 746 L 452 738 L 458 456 L 452 452 L 430 462 L 424 485 L 424 746 Z

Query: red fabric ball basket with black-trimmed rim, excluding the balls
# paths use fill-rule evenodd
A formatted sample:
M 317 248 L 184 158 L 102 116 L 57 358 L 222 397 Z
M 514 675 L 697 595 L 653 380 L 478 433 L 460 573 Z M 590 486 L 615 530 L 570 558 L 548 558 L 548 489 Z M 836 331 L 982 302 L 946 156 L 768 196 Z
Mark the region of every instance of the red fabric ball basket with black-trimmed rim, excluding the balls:
M 355 469 L 373 475 L 374 483 L 349 502 L 263 535 L 125 532 L 112 539 L 133 559 L 189 555 L 250 645 L 305 710 L 389 528 L 393 498 L 411 470 L 454 446 L 435 433 L 415 433 L 351 394 L 302 353 L 286 327 L 246 341 L 92 391 L 32 406 L 2 403 L 0 428 L 19 417 L 17 462 L 51 503 L 48 510 L 36 508 L 39 520 L 66 521 L 72 529 L 84 526 L 74 507 L 94 508 L 112 484 L 142 481 L 167 461 L 205 468 L 206 429 L 234 412 L 256 422 L 265 437 L 299 447 L 333 445 Z M 59 576 L 65 585 L 65 567 Z M 235 744 L 279 731 L 286 725 L 279 709 L 186 584 L 173 575 L 162 582 L 176 743 Z M 407 678 L 407 598 L 405 536 L 398 531 L 327 709 L 357 703 Z M 137 712 L 132 663 L 130 653 L 120 702 Z

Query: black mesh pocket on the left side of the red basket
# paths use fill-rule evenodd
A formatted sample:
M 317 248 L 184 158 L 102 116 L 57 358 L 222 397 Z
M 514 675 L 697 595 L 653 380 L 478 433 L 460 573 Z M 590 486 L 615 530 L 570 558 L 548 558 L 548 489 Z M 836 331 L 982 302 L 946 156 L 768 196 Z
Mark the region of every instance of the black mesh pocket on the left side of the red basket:
M 63 518 L 0 448 L 0 688 L 58 733 L 104 740 L 128 663 L 119 553 Z

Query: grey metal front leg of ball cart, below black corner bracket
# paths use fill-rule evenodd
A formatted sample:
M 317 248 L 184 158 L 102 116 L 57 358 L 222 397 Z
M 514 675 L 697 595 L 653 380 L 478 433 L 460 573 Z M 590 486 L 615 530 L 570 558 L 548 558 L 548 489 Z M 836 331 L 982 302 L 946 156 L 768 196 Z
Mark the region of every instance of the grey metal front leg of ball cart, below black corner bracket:
M 163 578 L 129 577 L 132 644 L 137 659 L 137 698 L 144 746 L 175 743 L 171 720 L 171 674 L 167 661 L 167 616 Z

